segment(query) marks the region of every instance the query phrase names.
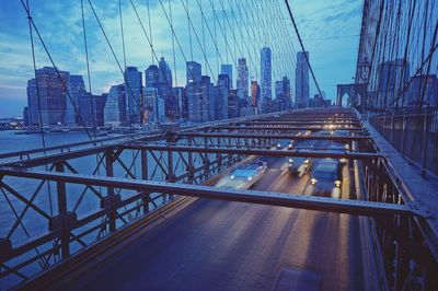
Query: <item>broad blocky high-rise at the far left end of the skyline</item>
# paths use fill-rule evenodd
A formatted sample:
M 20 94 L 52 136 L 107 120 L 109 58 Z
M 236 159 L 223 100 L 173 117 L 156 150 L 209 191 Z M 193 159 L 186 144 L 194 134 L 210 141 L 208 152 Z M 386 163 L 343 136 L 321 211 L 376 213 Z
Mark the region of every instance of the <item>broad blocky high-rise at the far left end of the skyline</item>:
M 66 123 L 67 86 L 70 73 L 60 70 L 58 72 L 60 79 L 55 68 L 44 67 L 36 70 L 37 81 L 32 79 L 27 82 L 27 103 L 32 125 L 39 126 L 39 113 L 43 126 Z

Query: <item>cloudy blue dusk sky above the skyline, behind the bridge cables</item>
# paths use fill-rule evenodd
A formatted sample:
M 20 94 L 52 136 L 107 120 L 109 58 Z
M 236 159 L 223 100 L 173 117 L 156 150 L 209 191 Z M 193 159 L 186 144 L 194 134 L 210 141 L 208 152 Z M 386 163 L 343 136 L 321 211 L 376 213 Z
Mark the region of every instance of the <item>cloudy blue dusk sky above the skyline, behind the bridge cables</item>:
M 35 25 L 46 43 L 47 49 L 49 50 L 56 66 L 61 70 L 70 71 L 72 74 L 82 74 L 87 80 L 87 62 L 80 0 L 28 1 Z M 146 31 L 149 32 L 146 7 L 147 1 L 132 1 L 136 4 L 137 12 L 143 22 Z M 173 63 L 172 35 L 166 20 L 166 15 L 170 16 L 170 14 L 169 10 L 166 15 L 163 13 L 159 0 L 149 1 L 152 23 L 152 43 L 157 57 L 159 58 L 164 56 L 165 59 L 170 61 L 171 69 L 176 71 L 176 82 L 178 85 L 184 85 L 184 58 L 189 58 L 191 55 L 188 46 L 187 18 L 184 5 L 182 5 L 183 2 L 186 3 L 186 0 L 171 1 L 173 26 L 183 53 L 178 50 L 178 44 L 174 43 L 176 47 L 176 57 L 175 63 Z M 195 10 L 196 4 L 199 3 L 198 1 L 199 0 L 188 0 L 188 8 L 193 25 L 199 32 L 201 15 Z M 206 19 L 209 21 L 212 28 L 211 20 L 214 20 L 215 16 L 209 7 L 209 3 L 211 3 L 209 1 L 204 0 L 204 3 L 201 4 L 204 4 Z M 227 1 L 230 3 L 230 0 Z M 286 11 L 284 1 L 280 0 L 254 1 L 268 1 L 270 4 L 274 3 L 279 5 L 281 11 Z M 102 25 L 112 43 L 115 55 L 122 66 L 124 66 L 118 0 L 91 0 L 91 2 L 102 21 Z M 168 4 L 168 1 L 163 2 Z M 214 3 L 215 2 L 217 5 L 220 3 L 217 0 L 215 0 Z M 249 2 L 251 3 L 251 1 Z M 289 3 L 292 13 L 295 14 L 306 49 L 310 51 L 310 62 L 320 88 L 326 92 L 327 97 L 335 100 L 336 84 L 353 82 L 353 75 L 355 74 L 362 1 L 289 0 Z M 168 8 L 169 7 L 166 7 L 166 9 Z M 143 71 L 152 61 L 149 45 L 128 0 L 122 0 L 122 10 L 127 65 L 136 66 L 139 70 Z M 231 15 L 231 12 L 226 7 L 226 13 L 227 12 Z M 91 88 L 94 94 L 101 94 L 107 92 L 112 84 L 122 83 L 123 75 L 87 1 L 84 1 L 84 15 L 89 43 Z M 290 20 L 286 19 L 286 12 L 283 16 L 287 21 L 287 24 L 290 25 L 288 28 L 292 30 Z M 292 32 L 293 31 L 290 31 L 290 33 Z M 219 28 L 218 34 L 220 34 Z M 278 38 L 275 35 L 275 31 L 270 37 L 272 39 Z M 218 37 L 217 39 L 219 50 L 222 51 L 221 57 L 223 62 L 227 62 L 226 59 L 229 59 L 228 62 L 233 63 L 232 61 L 234 60 L 230 60 L 233 57 L 231 53 L 228 53 L 227 50 L 226 42 L 223 40 L 224 38 Z M 193 32 L 192 40 L 194 43 L 194 59 L 204 63 L 203 50 L 199 47 L 196 47 L 196 38 Z M 50 61 L 38 42 L 35 32 L 34 42 L 37 68 L 50 66 Z M 300 50 L 298 49 L 299 44 L 297 38 L 293 37 L 291 42 L 295 49 Z M 214 42 L 206 37 L 207 49 L 205 53 L 211 65 L 208 68 L 207 66 L 204 66 L 203 73 L 205 74 L 215 75 L 218 73 L 218 61 L 214 45 Z M 243 48 L 243 44 L 241 45 Z M 231 43 L 230 46 L 232 46 Z M 260 44 L 260 48 L 262 48 L 262 46 L 263 43 Z M 275 50 L 274 47 L 272 47 L 272 49 Z M 283 54 L 287 51 L 290 50 L 281 50 Z M 277 59 L 274 57 L 274 60 L 286 60 L 286 62 L 290 65 L 273 63 L 273 67 L 275 67 L 273 81 L 279 79 L 280 75 L 289 74 L 290 72 L 290 78 L 292 79 L 291 84 L 293 88 L 296 56 L 283 57 L 279 56 L 279 51 L 273 51 L 274 56 L 275 54 L 277 54 Z M 237 55 L 239 55 L 239 53 Z M 247 62 L 250 67 L 250 75 L 257 75 L 258 68 L 252 67 L 254 67 L 254 63 L 255 66 L 260 66 L 260 57 L 253 56 L 253 58 L 251 60 L 249 59 Z M 235 84 L 235 70 L 233 74 Z M 20 0 L 3 0 L 0 2 L 0 117 L 22 115 L 23 107 L 26 105 L 26 83 L 27 80 L 33 78 L 33 59 L 25 11 Z M 212 81 L 214 80 L 215 79 L 212 78 Z M 311 81 L 311 94 L 314 93 L 316 93 L 315 86 Z

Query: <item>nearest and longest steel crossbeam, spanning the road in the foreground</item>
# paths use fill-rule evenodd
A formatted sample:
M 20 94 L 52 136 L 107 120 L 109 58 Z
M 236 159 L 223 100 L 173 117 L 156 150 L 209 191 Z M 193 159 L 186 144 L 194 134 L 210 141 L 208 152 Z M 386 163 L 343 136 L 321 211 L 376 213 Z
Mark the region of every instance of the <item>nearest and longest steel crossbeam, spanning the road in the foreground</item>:
M 300 208 L 318 211 L 328 211 L 358 216 L 380 217 L 393 214 L 416 214 L 406 205 L 335 199 L 293 195 L 284 193 L 267 193 L 258 190 L 242 190 L 216 188 L 209 186 L 173 184 L 164 182 L 114 178 L 92 175 L 65 174 L 45 171 L 28 171 L 16 168 L 0 168 L 0 175 L 41 178 L 55 182 L 88 184 L 103 187 L 132 189 L 147 193 L 169 193 L 175 195 L 203 197 L 219 200 L 270 205 L 289 208 Z

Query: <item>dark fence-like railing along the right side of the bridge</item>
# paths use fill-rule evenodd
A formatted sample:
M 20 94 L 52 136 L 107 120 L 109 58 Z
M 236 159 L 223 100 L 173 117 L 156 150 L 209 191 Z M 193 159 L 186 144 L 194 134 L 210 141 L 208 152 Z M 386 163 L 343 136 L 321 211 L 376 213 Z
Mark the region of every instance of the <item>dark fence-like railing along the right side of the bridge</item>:
M 438 176 L 438 109 L 370 116 L 370 124 L 422 173 Z

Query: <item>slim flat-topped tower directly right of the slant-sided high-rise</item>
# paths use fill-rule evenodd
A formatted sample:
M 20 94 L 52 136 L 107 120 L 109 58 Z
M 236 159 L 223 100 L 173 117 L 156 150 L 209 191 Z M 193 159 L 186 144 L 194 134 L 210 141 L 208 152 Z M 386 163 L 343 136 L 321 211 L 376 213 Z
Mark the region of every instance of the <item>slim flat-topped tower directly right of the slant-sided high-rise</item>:
M 128 96 L 128 121 L 129 124 L 140 124 L 140 101 L 142 95 L 141 72 L 136 67 L 127 67 L 125 70 L 126 89 Z

